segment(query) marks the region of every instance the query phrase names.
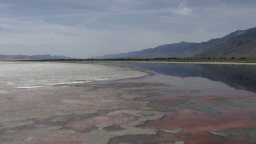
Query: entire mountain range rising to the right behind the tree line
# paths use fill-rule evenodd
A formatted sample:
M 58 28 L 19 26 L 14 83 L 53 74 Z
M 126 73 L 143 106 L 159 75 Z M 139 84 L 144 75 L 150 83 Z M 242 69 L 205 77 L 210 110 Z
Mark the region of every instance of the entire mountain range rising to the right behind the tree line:
M 256 27 L 237 30 L 207 42 L 180 42 L 156 48 L 91 58 L 192 58 L 192 57 L 256 57 Z

